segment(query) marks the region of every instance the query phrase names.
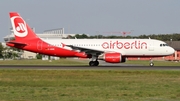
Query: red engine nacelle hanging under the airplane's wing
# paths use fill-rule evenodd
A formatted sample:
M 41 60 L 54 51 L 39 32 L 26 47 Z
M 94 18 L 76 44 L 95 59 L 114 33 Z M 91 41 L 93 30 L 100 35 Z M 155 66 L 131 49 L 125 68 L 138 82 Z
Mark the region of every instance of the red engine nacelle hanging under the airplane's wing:
M 109 63 L 126 62 L 126 57 L 122 57 L 121 53 L 104 53 L 98 59 Z

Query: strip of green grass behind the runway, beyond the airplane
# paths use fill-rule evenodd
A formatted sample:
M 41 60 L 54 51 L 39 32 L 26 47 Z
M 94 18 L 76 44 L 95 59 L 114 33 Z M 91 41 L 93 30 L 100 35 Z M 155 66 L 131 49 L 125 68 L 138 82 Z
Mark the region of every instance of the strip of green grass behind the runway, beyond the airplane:
M 60 60 L 1 60 L 0 65 L 60 65 L 60 66 L 88 66 L 89 60 L 81 59 L 60 59 Z M 121 64 L 121 63 L 120 63 Z M 127 60 L 125 64 L 138 64 L 149 66 L 149 61 Z M 180 66 L 180 62 L 154 61 L 154 66 Z M 100 63 L 101 65 L 101 63 Z

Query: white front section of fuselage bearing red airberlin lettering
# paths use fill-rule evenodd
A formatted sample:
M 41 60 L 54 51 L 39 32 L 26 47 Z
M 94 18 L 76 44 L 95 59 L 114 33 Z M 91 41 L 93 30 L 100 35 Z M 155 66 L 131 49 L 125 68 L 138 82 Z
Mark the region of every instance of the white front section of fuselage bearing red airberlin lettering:
M 118 52 L 123 56 L 165 56 L 174 49 L 155 39 L 43 39 L 45 42 L 72 50 L 64 45 L 73 45 L 104 52 Z M 63 45 L 64 44 L 64 45 Z

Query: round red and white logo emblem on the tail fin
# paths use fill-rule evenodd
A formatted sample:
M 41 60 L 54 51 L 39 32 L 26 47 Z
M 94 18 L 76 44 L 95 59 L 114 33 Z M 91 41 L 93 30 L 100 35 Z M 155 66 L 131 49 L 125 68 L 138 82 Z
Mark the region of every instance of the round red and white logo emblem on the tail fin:
M 27 35 L 27 26 L 21 17 L 15 16 L 11 18 L 14 34 L 18 37 L 25 37 Z

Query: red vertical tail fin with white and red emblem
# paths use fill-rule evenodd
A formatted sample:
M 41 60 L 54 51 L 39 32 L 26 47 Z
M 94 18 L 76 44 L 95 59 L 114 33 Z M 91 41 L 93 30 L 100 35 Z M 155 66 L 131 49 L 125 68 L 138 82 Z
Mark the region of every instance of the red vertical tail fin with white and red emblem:
M 9 15 L 15 35 L 15 41 L 37 38 L 33 30 L 26 24 L 18 13 L 10 12 Z

